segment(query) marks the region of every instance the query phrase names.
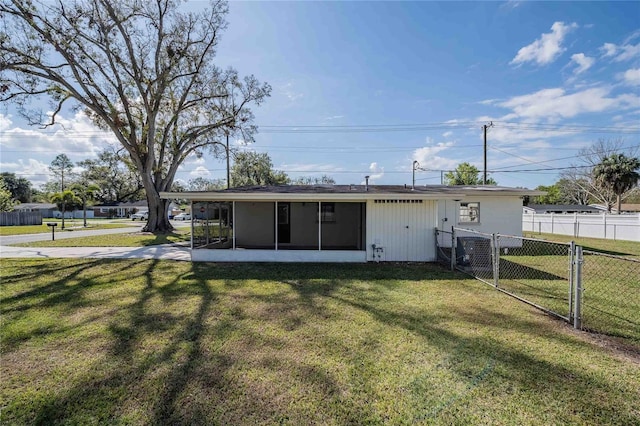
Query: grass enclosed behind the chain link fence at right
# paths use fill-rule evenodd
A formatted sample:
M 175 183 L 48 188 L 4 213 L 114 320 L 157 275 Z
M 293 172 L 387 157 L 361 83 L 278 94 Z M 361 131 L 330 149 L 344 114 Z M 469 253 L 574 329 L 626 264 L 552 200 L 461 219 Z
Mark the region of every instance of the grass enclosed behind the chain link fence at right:
M 611 251 L 608 240 L 589 240 L 589 250 Z M 635 253 L 634 245 L 640 247 L 629 244 L 625 254 Z M 568 262 L 566 245 L 524 241 L 521 249 L 500 255 L 500 286 L 568 317 Z M 640 262 L 585 252 L 582 286 L 583 327 L 640 347 Z

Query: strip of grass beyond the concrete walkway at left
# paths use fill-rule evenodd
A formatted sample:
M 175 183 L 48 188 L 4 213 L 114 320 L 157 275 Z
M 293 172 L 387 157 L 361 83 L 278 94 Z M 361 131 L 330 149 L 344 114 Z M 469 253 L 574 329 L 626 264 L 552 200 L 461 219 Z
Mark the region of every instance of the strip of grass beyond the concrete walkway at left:
M 14 245 L 19 247 L 145 247 L 158 244 L 189 242 L 189 235 L 189 231 L 187 230 L 176 230 L 169 234 L 132 232 L 130 234 L 95 235 L 91 237 L 36 241 Z

